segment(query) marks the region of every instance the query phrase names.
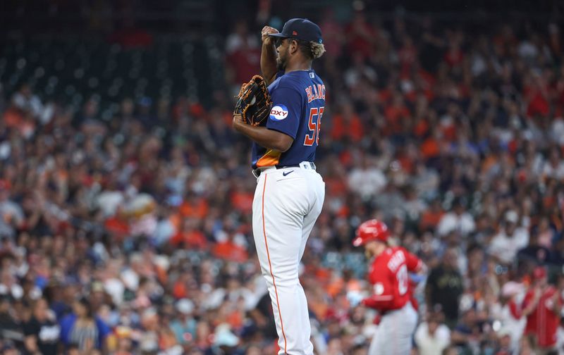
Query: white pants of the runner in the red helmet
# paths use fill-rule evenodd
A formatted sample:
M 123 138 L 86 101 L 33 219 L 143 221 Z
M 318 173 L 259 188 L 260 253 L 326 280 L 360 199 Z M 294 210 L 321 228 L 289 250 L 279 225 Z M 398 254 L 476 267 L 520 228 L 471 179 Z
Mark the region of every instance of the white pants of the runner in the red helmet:
M 411 302 L 384 314 L 372 337 L 368 355 L 409 355 L 416 325 L 417 312 Z

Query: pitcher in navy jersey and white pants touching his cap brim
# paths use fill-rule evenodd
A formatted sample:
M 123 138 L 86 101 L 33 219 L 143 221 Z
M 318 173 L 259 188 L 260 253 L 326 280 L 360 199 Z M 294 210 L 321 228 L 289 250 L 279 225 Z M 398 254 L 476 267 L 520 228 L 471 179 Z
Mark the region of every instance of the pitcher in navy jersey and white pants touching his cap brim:
M 264 27 L 263 76 L 243 84 L 233 113 L 233 128 L 253 141 L 252 229 L 274 310 L 278 354 L 313 354 L 298 266 L 325 198 L 314 164 L 325 85 L 312 70 L 324 51 L 321 30 L 309 20 L 288 20 L 281 33 Z

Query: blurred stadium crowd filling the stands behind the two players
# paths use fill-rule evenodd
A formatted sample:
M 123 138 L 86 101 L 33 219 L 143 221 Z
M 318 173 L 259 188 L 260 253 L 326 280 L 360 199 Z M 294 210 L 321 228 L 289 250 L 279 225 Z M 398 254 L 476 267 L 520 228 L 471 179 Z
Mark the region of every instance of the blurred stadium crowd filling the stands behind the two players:
M 562 28 L 319 24 L 326 201 L 301 273 L 318 354 L 367 354 L 378 331 L 351 244 L 368 218 L 429 268 L 418 354 L 564 354 Z M 2 354 L 275 353 L 250 142 L 231 130 L 233 91 L 259 72 L 248 28 L 226 38 L 230 89 L 209 108 L 123 99 L 106 122 L 95 98 L 2 93 Z

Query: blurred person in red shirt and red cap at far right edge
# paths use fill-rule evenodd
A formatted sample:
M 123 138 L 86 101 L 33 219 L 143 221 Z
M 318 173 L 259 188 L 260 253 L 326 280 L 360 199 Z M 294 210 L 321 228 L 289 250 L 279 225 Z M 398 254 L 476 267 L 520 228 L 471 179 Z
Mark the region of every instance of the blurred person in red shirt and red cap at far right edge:
M 550 354 L 556 349 L 562 299 L 556 287 L 548 284 L 544 267 L 537 266 L 532 276 L 533 285 L 522 304 L 523 316 L 527 317 L 525 335 L 537 350 L 536 354 Z

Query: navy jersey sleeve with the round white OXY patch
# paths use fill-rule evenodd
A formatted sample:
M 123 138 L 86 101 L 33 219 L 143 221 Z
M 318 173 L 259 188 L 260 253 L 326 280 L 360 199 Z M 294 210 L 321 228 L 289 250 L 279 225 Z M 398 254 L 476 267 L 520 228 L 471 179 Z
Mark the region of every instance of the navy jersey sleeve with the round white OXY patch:
M 271 92 L 272 108 L 266 128 L 277 130 L 295 139 L 300 127 L 302 95 L 291 87 L 276 87 Z

